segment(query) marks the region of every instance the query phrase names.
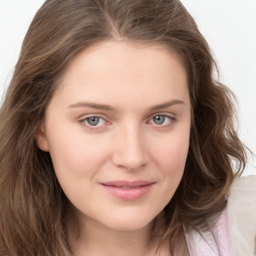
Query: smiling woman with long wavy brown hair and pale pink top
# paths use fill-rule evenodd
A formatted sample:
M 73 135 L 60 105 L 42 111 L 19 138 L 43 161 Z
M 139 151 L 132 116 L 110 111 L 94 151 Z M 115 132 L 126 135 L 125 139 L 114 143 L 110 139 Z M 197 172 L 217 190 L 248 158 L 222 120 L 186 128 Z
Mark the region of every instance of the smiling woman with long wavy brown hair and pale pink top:
M 46 0 L 0 111 L 0 255 L 233 255 L 214 70 L 177 0 Z

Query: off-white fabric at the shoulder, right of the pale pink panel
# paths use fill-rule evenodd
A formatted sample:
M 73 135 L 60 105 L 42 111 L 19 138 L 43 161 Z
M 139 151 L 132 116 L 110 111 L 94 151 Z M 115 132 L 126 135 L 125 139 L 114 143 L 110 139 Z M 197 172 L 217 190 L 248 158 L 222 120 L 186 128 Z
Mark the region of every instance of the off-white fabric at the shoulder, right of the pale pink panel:
M 256 175 L 236 177 L 228 194 L 235 255 L 253 255 L 256 235 Z

